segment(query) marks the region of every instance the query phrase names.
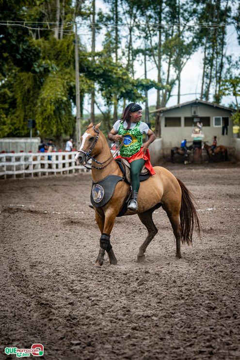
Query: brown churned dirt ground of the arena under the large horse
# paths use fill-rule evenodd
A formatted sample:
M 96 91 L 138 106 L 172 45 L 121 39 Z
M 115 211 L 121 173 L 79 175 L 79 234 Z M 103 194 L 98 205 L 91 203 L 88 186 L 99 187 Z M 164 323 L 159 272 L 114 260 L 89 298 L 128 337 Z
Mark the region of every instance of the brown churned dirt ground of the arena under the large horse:
M 0 359 L 34 343 L 47 360 L 240 359 L 240 165 L 165 167 L 196 196 L 202 239 L 176 260 L 159 209 L 137 263 L 146 230 L 121 217 L 118 265 L 101 269 L 90 173 L 0 180 Z

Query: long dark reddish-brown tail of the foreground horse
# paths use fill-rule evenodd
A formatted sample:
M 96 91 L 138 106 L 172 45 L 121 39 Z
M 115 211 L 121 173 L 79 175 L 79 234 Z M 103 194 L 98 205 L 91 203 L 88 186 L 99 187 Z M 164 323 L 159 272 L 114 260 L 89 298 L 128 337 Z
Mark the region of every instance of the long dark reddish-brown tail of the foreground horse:
M 182 243 L 187 243 L 188 245 L 192 244 L 192 232 L 193 228 L 197 232 L 197 235 L 200 237 L 200 221 L 198 218 L 198 214 L 194 207 L 193 201 L 195 201 L 192 193 L 186 188 L 184 183 L 176 179 L 182 190 L 182 198 L 181 198 L 181 209 L 180 209 L 180 226 L 181 226 L 181 240 Z

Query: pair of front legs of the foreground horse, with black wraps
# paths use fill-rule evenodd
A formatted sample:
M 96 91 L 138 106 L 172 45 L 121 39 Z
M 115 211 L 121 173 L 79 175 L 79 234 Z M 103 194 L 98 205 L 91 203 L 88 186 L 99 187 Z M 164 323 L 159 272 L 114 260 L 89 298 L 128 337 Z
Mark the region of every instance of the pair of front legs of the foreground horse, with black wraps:
M 111 212 L 107 212 L 106 214 L 103 213 L 102 209 L 96 210 L 96 222 L 101 231 L 100 237 L 100 250 L 95 262 L 96 267 L 100 267 L 104 261 L 105 251 L 107 250 L 109 261 L 112 265 L 117 264 L 117 259 L 114 255 L 112 250 L 112 245 L 110 243 L 110 234 L 114 225 L 114 221 L 116 215 Z

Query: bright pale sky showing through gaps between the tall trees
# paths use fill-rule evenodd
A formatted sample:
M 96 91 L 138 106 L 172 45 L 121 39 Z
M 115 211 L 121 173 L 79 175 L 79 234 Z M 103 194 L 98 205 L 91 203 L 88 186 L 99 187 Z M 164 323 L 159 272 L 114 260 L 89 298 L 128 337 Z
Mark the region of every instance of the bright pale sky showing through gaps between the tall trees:
M 96 11 L 102 9 L 106 11 L 106 4 L 103 3 L 102 0 L 96 0 Z M 107 10 L 108 11 L 108 10 Z M 88 32 L 80 31 L 80 36 L 83 42 L 89 46 L 91 44 L 91 34 Z M 104 39 L 104 34 L 100 33 L 97 37 L 96 42 L 96 50 L 102 49 L 101 43 Z M 233 25 L 227 27 L 227 36 L 226 36 L 226 55 L 234 54 L 235 58 L 237 59 L 240 57 L 240 45 L 237 40 L 237 33 Z M 154 67 L 153 63 L 148 62 L 147 64 L 147 77 L 152 80 L 157 80 L 157 69 Z M 144 77 L 144 65 L 135 62 L 134 66 L 135 70 L 135 78 L 143 78 Z M 195 52 L 192 57 L 189 59 L 187 64 L 182 70 L 181 74 L 181 98 L 180 103 L 191 101 L 195 98 L 200 97 L 201 91 L 201 78 L 202 78 L 202 70 L 203 70 L 203 51 L 199 49 Z M 191 94 L 191 95 L 184 95 L 184 94 Z M 151 89 L 148 91 L 148 104 L 156 105 L 156 98 L 157 98 L 157 90 Z M 209 101 L 212 99 L 210 98 Z M 101 100 L 99 99 L 101 102 Z M 228 106 L 231 101 L 235 102 L 235 99 L 231 96 L 224 97 L 222 99 L 221 104 L 224 106 Z M 167 103 L 168 106 L 176 105 L 177 103 L 177 83 L 175 88 L 172 92 L 172 97 L 169 99 Z M 101 104 L 103 105 L 103 103 Z M 90 112 L 90 98 L 86 98 L 84 102 L 84 112 Z M 98 110 L 96 109 L 96 113 Z

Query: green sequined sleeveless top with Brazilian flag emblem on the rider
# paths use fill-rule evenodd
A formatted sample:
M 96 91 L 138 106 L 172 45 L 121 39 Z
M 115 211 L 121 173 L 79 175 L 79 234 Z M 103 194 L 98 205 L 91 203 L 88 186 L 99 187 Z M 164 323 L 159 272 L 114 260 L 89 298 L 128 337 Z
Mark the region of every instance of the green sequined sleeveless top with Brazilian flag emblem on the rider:
M 124 142 L 120 149 L 120 155 L 124 158 L 136 154 L 143 144 L 143 134 L 139 129 L 140 123 L 137 122 L 133 129 L 126 130 L 123 126 L 123 121 L 120 122 L 118 134 L 123 135 Z

